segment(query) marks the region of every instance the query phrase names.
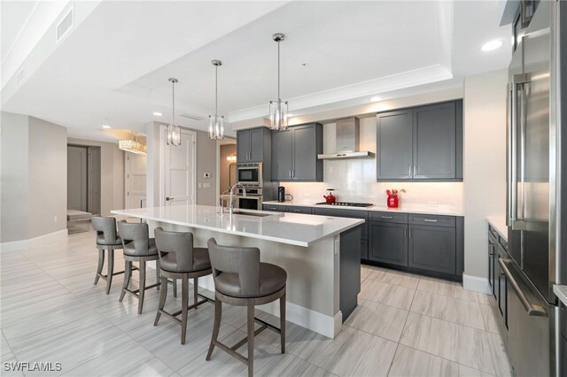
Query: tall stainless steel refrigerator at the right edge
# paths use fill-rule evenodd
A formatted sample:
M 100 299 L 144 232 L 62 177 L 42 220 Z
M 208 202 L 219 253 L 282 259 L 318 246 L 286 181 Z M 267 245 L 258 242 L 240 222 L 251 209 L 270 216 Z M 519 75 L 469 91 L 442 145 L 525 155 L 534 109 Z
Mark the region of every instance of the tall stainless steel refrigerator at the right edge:
M 509 65 L 510 258 L 499 263 L 508 284 L 509 357 L 520 376 L 555 375 L 557 365 L 553 284 L 563 279 L 567 222 L 561 207 L 565 8 L 563 2 L 540 1 Z

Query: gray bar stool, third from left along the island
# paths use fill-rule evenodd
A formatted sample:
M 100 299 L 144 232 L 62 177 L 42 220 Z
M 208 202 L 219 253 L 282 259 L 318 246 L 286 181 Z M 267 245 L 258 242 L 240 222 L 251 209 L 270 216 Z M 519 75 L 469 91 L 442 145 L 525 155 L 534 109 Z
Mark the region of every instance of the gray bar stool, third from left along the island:
M 161 314 L 173 319 L 181 325 L 181 343 L 185 344 L 187 333 L 187 312 L 197 309 L 200 304 L 207 301 L 214 302 L 206 296 L 198 293 L 198 278 L 211 273 L 211 261 L 209 251 L 206 248 L 193 247 L 193 234 L 190 232 L 168 232 L 161 227 L 155 229 L 156 246 L 159 250 L 159 273 L 161 285 L 167 287 L 167 279 L 181 279 L 182 301 L 181 310 L 178 312 L 166 312 L 167 289 L 161 289 L 159 293 L 159 307 L 153 326 L 158 326 Z M 189 305 L 189 279 L 193 279 L 193 303 Z M 203 300 L 198 301 L 198 297 Z M 181 320 L 177 316 L 181 314 Z

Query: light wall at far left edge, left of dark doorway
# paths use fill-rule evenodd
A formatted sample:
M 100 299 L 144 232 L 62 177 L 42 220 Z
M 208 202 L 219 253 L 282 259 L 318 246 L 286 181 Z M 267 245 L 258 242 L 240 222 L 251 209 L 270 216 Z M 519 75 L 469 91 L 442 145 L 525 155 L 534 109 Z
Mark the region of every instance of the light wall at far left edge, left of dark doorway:
M 66 229 L 66 128 L 2 112 L 1 242 Z

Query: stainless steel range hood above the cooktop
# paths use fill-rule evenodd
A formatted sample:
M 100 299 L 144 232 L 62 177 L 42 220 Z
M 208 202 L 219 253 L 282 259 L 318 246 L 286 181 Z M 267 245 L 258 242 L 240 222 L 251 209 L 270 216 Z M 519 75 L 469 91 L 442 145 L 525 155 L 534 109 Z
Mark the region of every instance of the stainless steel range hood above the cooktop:
M 356 117 L 337 119 L 337 147 L 335 153 L 317 155 L 319 159 L 343 159 L 343 158 L 371 158 L 374 153 L 369 150 L 360 151 L 360 125 Z

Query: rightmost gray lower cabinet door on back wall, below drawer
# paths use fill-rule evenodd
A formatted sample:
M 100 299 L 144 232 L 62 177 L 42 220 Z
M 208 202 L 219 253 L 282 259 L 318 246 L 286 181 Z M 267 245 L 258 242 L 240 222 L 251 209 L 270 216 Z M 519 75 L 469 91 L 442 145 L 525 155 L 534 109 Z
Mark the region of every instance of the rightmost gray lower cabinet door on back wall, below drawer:
M 410 225 L 408 266 L 438 273 L 456 273 L 454 227 Z

